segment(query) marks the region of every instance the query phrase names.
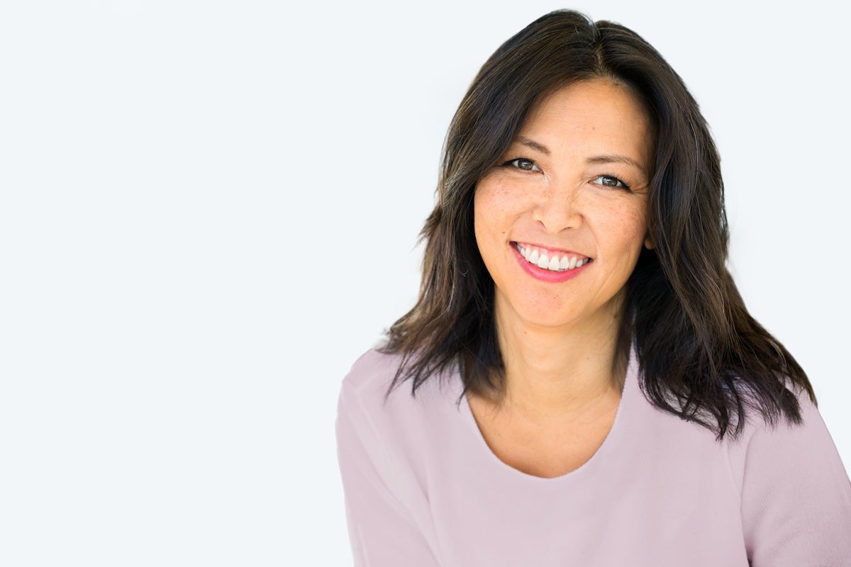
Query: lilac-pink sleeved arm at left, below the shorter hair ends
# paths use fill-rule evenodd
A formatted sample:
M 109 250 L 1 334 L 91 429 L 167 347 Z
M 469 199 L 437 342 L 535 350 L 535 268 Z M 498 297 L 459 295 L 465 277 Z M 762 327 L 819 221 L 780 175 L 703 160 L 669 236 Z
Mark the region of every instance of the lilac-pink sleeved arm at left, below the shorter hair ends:
M 386 458 L 376 458 L 379 439 L 362 439 L 370 431 L 366 427 L 369 420 L 359 415 L 360 407 L 350 399 L 353 396 L 344 383 L 337 406 L 336 436 L 355 565 L 438 567 L 414 519 L 379 473 L 383 463 L 388 462 Z

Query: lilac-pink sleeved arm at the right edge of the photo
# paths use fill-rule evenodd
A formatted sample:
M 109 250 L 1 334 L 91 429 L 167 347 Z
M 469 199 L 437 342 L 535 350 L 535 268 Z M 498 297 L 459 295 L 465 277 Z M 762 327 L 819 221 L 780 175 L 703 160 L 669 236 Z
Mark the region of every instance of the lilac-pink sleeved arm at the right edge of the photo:
M 802 425 L 761 426 L 749 439 L 742 522 L 753 567 L 851 565 L 851 482 L 819 411 Z

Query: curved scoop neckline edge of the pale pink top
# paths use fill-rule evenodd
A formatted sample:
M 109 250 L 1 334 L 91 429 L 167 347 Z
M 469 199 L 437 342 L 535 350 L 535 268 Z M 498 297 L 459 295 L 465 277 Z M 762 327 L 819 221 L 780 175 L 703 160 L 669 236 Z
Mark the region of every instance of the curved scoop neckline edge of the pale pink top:
M 460 386 L 460 393 L 464 389 L 464 383 L 461 380 L 460 372 L 455 372 L 455 379 Z M 626 366 L 624 388 L 620 392 L 618 410 L 614 414 L 612 427 L 608 430 L 608 434 L 606 435 L 606 438 L 603 439 L 603 443 L 597 448 L 597 451 L 595 451 L 594 454 L 579 467 L 574 468 L 574 470 L 568 473 L 550 478 L 524 473 L 523 471 L 512 467 L 507 462 L 504 462 L 499 456 L 496 456 L 494 451 L 491 451 L 488 442 L 485 441 L 482 430 L 478 427 L 476 417 L 473 416 L 473 412 L 470 407 L 470 400 L 467 399 L 466 393 L 461 394 L 461 397 L 463 398 L 461 405 L 464 407 L 464 411 L 462 413 L 464 414 L 463 418 L 466 422 L 467 428 L 471 429 L 471 434 L 475 438 L 474 444 L 477 445 L 478 454 L 483 454 L 489 462 L 493 462 L 496 468 L 499 468 L 502 473 L 505 473 L 508 476 L 513 476 L 521 481 L 532 482 L 539 485 L 557 485 L 572 482 L 574 479 L 580 479 L 583 476 L 590 474 L 589 471 L 602 466 L 603 462 L 606 461 L 608 453 L 613 451 L 614 446 L 618 444 L 618 439 L 621 437 L 622 430 L 625 429 L 623 422 L 626 420 L 626 414 L 629 413 L 631 399 L 635 395 L 637 388 L 637 361 L 635 358 L 635 352 L 631 349 L 629 362 Z

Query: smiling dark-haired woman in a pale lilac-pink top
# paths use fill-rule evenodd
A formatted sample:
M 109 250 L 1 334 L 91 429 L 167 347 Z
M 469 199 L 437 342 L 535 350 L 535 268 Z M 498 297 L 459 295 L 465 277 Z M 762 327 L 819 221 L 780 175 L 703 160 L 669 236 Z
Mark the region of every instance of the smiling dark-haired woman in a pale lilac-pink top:
M 654 48 L 534 21 L 438 196 L 420 298 L 340 392 L 356 564 L 851 564 L 851 483 L 725 268 L 717 151 Z

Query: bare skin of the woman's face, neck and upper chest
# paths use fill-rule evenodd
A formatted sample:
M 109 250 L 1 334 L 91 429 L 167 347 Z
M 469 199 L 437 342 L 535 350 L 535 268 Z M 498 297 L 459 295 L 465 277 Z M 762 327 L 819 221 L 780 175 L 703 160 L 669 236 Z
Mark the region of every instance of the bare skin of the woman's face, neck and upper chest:
M 477 184 L 505 395 L 468 400 L 494 453 L 523 472 L 550 478 L 580 467 L 614 421 L 624 286 L 652 247 L 652 140 L 630 91 L 576 82 L 534 109 Z

